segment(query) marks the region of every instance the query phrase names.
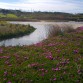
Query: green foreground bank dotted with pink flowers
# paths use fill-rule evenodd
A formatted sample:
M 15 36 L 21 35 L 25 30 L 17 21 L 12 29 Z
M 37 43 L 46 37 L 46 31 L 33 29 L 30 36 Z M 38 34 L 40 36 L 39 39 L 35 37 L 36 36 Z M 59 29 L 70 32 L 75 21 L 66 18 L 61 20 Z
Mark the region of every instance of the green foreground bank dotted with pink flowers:
M 83 30 L 0 47 L 0 83 L 83 83 Z

